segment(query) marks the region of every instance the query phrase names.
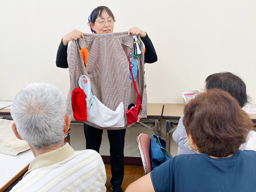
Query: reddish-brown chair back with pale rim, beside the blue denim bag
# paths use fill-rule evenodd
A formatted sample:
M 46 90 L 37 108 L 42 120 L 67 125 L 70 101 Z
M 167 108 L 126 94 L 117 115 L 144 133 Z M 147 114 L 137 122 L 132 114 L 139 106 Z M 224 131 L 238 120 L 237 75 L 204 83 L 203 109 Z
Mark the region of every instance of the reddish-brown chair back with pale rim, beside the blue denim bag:
M 147 134 L 141 133 L 137 136 L 137 145 L 142 159 L 144 175 L 148 174 L 151 171 L 150 140 L 151 139 Z

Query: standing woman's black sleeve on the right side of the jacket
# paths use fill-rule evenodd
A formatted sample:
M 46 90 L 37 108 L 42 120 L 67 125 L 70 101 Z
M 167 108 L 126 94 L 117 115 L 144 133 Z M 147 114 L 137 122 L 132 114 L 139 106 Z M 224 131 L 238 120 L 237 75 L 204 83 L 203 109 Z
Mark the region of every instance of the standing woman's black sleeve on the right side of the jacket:
M 154 63 L 157 61 L 156 50 L 148 37 L 148 34 L 144 38 L 141 38 L 142 42 L 144 43 L 146 52 L 144 54 L 144 63 Z

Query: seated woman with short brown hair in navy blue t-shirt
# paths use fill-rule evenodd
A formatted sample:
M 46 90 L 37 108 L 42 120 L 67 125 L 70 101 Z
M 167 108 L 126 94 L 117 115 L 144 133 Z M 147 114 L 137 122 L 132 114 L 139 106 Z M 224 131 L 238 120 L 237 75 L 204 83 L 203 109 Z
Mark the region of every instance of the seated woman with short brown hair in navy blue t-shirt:
M 256 151 L 239 150 L 253 123 L 234 97 L 220 89 L 199 94 L 183 123 L 198 154 L 171 158 L 126 192 L 255 192 Z

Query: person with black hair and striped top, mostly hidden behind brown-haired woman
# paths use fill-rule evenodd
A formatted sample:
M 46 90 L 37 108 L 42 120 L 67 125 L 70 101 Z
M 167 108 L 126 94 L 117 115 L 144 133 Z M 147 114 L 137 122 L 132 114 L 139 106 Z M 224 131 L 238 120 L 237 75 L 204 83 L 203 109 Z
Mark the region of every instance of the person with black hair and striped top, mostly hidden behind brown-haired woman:
M 219 88 L 229 92 L 239 103 L 240 107 L 243 107 L 248 102 L 248 96 L 246 94 L 246 85 L 241 78 L 230 73 L 221 72 L 208 76 L 205 80 L 205 90 L 212 88 Z M 178 144 L 178 155 L 180 154 L 196 154 L 195 150 L 192 150 L 188 145 L 188 139 L 186 137 L 186 130 L 182 123 L 183 116 L 180 118 L 178 126 L 172 134 L 173 140 Z M 240 150 L 245 150 L 249 141 L 250 134 L 246 138 L 246 142 L 241 144 Z

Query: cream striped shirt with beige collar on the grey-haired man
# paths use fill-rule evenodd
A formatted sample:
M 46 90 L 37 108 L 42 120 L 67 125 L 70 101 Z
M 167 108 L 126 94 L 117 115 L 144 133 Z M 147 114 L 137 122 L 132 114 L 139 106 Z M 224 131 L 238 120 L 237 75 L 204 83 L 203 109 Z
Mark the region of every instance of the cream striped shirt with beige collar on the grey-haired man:
M 105 192 L 106 170 L 94 150 L 63 147 L 41 154 L 11 192 Z

